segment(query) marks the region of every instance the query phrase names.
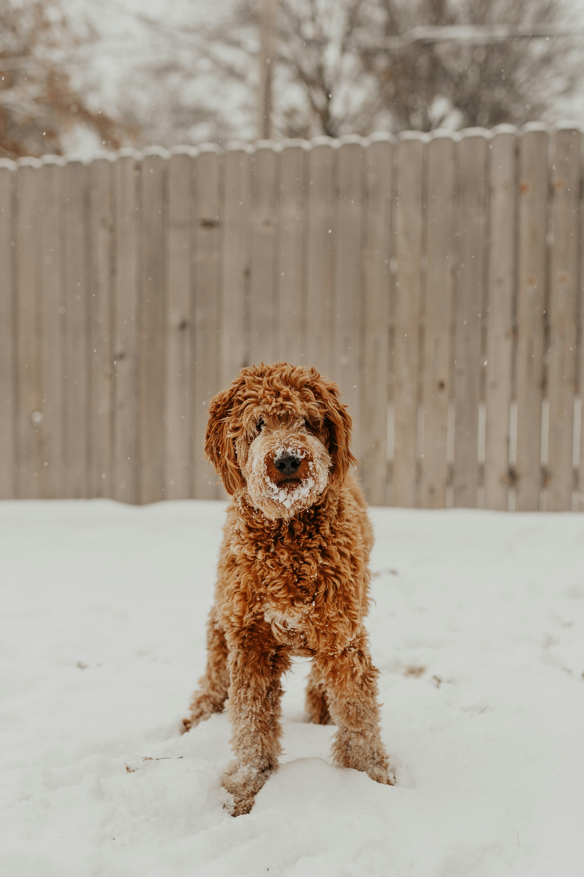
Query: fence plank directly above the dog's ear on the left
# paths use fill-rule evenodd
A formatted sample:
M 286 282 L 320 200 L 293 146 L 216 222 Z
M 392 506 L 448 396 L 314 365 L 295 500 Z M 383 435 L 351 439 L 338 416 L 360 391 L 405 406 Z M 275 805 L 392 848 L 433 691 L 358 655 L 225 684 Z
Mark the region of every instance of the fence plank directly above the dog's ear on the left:
M 224 159 L 225 225 L 222 288 L 222 385 L 247 365 L 246 297 L 250 287 L 250 146 L 234 144 Z

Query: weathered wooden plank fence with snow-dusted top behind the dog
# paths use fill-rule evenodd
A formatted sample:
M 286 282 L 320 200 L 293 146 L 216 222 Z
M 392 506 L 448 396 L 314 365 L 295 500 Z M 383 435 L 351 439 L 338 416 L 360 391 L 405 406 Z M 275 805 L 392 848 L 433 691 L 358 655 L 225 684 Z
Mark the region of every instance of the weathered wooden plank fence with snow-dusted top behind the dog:
M 0 497 L 222 496 L 208 400 L 284 359 L 341 384 L 370 503 L 584 509 L 581 141 L 0 161 Z

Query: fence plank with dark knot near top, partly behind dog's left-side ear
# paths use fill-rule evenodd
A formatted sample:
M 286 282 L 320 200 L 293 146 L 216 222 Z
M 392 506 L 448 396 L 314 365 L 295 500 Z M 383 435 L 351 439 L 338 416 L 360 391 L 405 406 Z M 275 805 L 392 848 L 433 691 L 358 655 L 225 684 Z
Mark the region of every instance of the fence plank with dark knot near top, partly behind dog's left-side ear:
M 247 159 L 246 153 L 243 153 L 243 155 Z M 195 166 L 196 192 L 193 216 L 195 217 L 196 236 L 194 245 L 196 260 L 196 305 L 193 356 L 193 421 L 191 428 L 193 435 L 193 496 L 196 496 L 197 499 L 213 499 L 222 496 L 222 486 L 218 483 L 215 470 L 205 460 L 204 443 L 208 403 L 215 396 L 215 393 L 225 385 L 223 381 L 226 380 L 223 376 L 220 361 L 222 346 L 219 343 L 218 332 L 221 317 L 222 253 L 223 246 L 225 246 L 223 238 L 224 213 L 222 190 L 224 160 L 225 158 L 221 150 L 209 146 L 201 150 L 197 155 Z M 237 156 L 234 158 L 233 153 L 231 155 L 231 163 L 235 163 L 236 166 L 239 163 L 239 159 Z M 231 168 L 231 170 L 235 172 L 236 168 Z M 234 182 L 232 175 L 230 176 L 230 182 Z M 239 207 L 238 204 L 236 206 Z M 231 217 L 230 222 L 235 222 L 234 217 Z M 230 227 L 229 240 L 232 243 L 237 241 L 241 243 L 239 233 L 233 226 Z M 241 275 L 243 275 L 244 271 L 243 264 L 240 261 L 240 270 L 235 272 L 240 280 L 240 295 L 243 294 L 243 282 L 241 282 Z M 232 276 L 235 282 L 236 278 L 234 275 L 230 276 Z M 229 306 L 229 301 L 232 302 L 233 299 L 229 297 L 228 303 L 224 307 Z M 233 324 L 232 328 L 235 331 Z M 243 332 L 243 326 L 240 326 L 240 329 Z M 235 367 L 234 361 L 231 361 L 229 368 L 233 367 Z M 233 377 L 235 377 L 235 374 L 229 377 L 229 381 Z

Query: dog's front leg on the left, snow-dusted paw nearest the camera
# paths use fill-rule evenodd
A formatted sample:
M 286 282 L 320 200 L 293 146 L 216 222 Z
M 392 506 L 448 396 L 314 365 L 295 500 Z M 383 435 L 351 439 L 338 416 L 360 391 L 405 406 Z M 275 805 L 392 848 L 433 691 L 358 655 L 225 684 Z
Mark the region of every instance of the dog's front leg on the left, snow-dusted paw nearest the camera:
M 278 767 L 280 746 L 280 677 L 290 658 L 278 646 L 246 631 L 241 642 L 229 644 L 231 746 L 236 755 L 223 788 L 233 795 L 233 816 L 249 813 L 264 782 Z

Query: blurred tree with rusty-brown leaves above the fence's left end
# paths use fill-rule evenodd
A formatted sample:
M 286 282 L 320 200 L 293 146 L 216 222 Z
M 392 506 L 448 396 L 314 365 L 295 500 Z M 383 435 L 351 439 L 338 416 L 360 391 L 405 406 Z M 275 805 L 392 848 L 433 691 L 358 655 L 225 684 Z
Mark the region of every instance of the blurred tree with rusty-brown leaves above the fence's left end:
M 75 34 L 59 0 L 0 0 L 0 155 L 61 153 L 75 125 L 116 147 L 120 127 L 74 89 L 63 54 L 90 34 Z

